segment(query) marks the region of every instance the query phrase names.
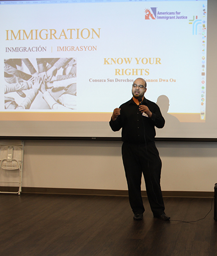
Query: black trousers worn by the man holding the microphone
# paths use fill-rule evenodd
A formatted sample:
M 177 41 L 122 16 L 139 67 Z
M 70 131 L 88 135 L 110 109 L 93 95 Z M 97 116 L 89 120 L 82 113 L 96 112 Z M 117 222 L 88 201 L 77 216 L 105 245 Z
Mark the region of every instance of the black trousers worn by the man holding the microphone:
M 124 142 L 122 158 L 128 184 L 129 201 L 134 214 L 145 211 L 141 196 L 142 173 L 146 191 L 154 215 L 164 213 L 164 200 L 161 191 L 162 162 L 155 142 L 136 144 Z

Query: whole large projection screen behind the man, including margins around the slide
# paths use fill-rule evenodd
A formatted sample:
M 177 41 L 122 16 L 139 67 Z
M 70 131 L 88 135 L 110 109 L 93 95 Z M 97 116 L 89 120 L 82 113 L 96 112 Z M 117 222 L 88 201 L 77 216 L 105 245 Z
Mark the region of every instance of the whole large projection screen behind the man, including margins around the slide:
M 162 138 L 217 138 L 216 0 L 0 1 L 0 136 L 120 137 L 137 77 Z

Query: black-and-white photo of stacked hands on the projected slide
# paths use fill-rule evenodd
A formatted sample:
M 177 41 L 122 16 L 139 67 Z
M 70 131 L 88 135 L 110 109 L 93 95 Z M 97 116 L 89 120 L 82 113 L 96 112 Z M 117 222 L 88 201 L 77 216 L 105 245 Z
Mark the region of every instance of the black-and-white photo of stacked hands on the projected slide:
M 4 108 L 76 109 L 75 58 L 4 60 Z

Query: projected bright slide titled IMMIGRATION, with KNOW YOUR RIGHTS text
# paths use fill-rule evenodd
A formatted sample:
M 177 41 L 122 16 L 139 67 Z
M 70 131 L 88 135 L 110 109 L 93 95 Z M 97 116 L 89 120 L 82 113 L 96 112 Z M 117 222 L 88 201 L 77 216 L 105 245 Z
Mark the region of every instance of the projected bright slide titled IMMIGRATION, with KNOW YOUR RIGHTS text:
M 46 22 L 41 4 L 0 7 L 1 111 L 111 113 L 144 77 L 147 98 L 167 97 L 168 113 L 179 121 L 206 120 L 206 1 L 43 3 Z M 137 18 L 129 19 L 132 8 Z

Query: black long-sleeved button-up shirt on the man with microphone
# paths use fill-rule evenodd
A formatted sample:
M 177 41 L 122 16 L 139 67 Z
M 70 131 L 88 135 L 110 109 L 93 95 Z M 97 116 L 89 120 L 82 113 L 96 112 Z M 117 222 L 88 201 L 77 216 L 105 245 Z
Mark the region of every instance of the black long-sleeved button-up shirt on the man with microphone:
M 131 98 L 120 106 L 121 114 L 115 121 L 110 120 L 109 124 L 113 131 L 122 128 L 122 141 L 130 143 L 148 143 L 155 140 L 155 126 L 163 128 L 165 119 L 161 114 L 159 106 L 144 98 L 143 105 L 147 105 L 152 112 L 151 117 L 143 116 L 139 106 Z

